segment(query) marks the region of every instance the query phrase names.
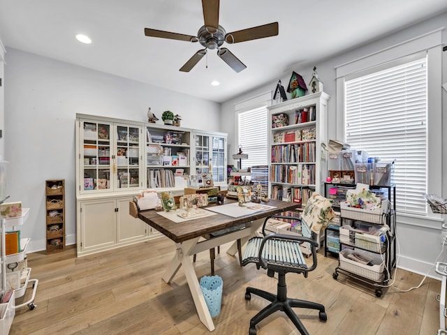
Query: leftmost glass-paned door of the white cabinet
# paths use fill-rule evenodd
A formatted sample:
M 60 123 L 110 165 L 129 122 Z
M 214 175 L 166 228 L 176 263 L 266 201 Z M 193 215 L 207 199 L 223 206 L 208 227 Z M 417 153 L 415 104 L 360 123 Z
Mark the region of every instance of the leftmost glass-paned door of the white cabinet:
M 84 121 L 81 137 L 83 148 L 80 150 L 80 166 L 84 186 L 82 191 L 107 190 L 110 184 L 110 124 Z

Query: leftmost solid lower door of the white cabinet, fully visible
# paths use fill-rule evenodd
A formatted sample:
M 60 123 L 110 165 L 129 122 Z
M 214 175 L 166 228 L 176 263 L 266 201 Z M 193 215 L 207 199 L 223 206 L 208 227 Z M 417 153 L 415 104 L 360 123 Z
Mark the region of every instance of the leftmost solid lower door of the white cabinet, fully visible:
M 117 243 L 115 199 L 80 202 L 80 246 L 78 254 L 101 250 Z

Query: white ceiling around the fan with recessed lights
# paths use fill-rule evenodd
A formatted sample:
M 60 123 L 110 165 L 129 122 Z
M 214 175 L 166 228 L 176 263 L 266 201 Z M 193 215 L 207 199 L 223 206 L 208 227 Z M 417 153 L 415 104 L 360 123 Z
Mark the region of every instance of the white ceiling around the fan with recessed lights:
M 180 72 L 201 45 L 145 36 L 145 28 L 196 36 L 203 25 L 200 0 L 0 0 L 0 40 L 6 47 L 223 102 L 275 82 L 298 64 L 318 65 L 447 10 L 446 0 L 220 2 L 219 24 L 226 31 L 279 22 L 278 36 L 223 45 L 247 66 L 240 73 L 215 50 L 191 72 Z M 80 33 L 93 42 L 79 43 Z M 212 80 L 221 85 L 212 87 Z

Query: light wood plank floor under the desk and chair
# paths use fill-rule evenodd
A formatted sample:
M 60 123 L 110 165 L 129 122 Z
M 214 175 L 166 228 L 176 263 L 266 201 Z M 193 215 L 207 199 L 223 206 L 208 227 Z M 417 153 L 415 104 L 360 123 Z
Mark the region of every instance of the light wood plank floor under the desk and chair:
M 244 300 L 248 285 L 276 291 L 277 281 L 256 270 L 240 268 L 237 258 L 217 255 L 216 274 L 223 278 L 221 313 L 214 318 L 213 334 L 248 334 L 249 320 L 267 301 L 252 296 Z M 210 334 L 198 320 L 182 270 L 171 285 L 161 275 L 174 255 L 174 244 L 166 237 L 114 251 L 75 258 L 75 248 L 64 253 L 31 253 L 31 278 L 39 280 L 33 311 L 18 308 L 11 335 L 24 334 Z M 420 334 L 435 335 L 439 328 L 439 281 L 427 278 L 417 290 L 386 289 L 381 298 L 374 291 L 332 278 L 334 258 L 318 256 L 318 267 L 304 278 L 288 274 L 288 296 L 325 305 L 327 322 L 318 312 L 296 309 L 310 334 Z M 197 257 L 198 276 L 210 273 L 208 253 Z M 421 276 L 397 270 L 395 286 L 405 290 L 418 285 Z M 359 289 L 360 288 L 360 289 Z M 17 304 L 29 299 L 27 294 Z M 258 325 L 258 335 L 299 334 L 282 312 Z

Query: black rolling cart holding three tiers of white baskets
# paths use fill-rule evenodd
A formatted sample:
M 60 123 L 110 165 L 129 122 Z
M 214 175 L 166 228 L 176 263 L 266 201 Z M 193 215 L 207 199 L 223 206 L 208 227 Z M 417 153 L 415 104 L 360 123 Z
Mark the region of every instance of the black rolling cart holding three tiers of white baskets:
M 391 271 L 396 266 L 396 222 L 395 222 L 395 185 L 376 186 L 388 189 L 388 200 L 393 199 L 393 206 L 386 213 L 369 213 L 366 210 L 351 207 L 341 207 L 339 230 L 339 263 L 332 277 L 337 280 L 339 274 L 365 283 L 374 288 L 376 297 L 381 297 L 383 287 L 388 285 L 391 279 Z M 356 223 L 374 226 L 382 233 L 379 236 L 371 235 L 343 227 L 343 221 L 351 220 Z M 388 228 L 387 228 L 388 225 Z M 352 260 L 353 255 L 368 254 L 372 260 L 368 265 Z M 357 255 L 358 255 L 357 254 Z

